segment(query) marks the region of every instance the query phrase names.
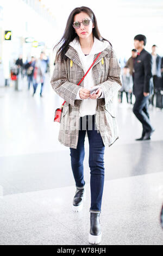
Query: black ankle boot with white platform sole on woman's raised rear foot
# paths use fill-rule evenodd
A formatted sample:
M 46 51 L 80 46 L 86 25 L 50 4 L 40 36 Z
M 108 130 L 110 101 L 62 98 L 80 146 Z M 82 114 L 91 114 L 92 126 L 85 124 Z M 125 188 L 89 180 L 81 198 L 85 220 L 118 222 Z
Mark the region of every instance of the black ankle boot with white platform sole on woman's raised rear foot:
M 84 188 L 78 189 L 76 191 L 76 194 L 73 198 L 73 211 L 81 211 L 83 209 L 83 200 L 85 199 L 85 191 Z

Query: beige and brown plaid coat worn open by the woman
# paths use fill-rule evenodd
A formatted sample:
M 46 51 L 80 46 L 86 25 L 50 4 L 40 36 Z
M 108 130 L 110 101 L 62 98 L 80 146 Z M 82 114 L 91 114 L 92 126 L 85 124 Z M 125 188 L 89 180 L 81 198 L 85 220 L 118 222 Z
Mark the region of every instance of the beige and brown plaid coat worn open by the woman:
M 94 60 L 97 55 L 95 54 Z M 66 100 L 62 109 L 58 140 L 66 147 L 77 149 L 79 109 L 82 100 L 76 100 L 76 95 L 79 88 L 84 86 L 84 81 L 80 83 L 80 86 L 77 84 L 85 73 L 78 52 L 72 46 L 69 46 L 66 56 L 68 59 L 64 62 L 61 62 L 60 56 L 55 62 L 51 85 L 55 93 Z M 72 62 L 73 65 L 71 65 Z M 102 51 L 90 72 L 92 72 L 95 85 L 101 86 L 105 96 L 97 99 L 96 127 L 101 133 L 104 145 L 110 147 L 118 139 L 118 126 L 112 97 L 122 86 L 120 64 L 111 46 Z

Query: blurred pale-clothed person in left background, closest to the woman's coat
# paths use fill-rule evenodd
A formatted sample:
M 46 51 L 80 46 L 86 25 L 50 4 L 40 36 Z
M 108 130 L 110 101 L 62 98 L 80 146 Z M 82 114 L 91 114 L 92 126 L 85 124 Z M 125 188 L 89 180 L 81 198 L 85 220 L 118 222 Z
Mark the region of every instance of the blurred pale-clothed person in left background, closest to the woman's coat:
M 40 58 L 38 60 L 36 60 L 36 62 L 35 62 L 33 96 L 36 93 L 38 84 L 41 83 L 40 97 L 42 97 L 42 90 L 43 90 L 43 85 L 45 82 L 45 74 L 47 72 L 47 65 L 48 65 L 48 58 L 45 56 L 44 52 L 41 52 Z

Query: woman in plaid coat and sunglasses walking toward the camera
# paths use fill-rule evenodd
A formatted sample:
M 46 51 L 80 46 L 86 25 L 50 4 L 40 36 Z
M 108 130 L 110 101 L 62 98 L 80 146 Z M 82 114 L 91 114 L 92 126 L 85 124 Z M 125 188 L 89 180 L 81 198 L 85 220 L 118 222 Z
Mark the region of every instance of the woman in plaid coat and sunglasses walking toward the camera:
M 90 8 L 80 7 L 71 12 L 64 35 L 55 47 L 59 45 L 51 79 L 54 91 L 66 101 L 62 109 L 58 139 L 70 148 L 76 182 L 72 205 L 74 211 L 83 208 L 85 136 L 89 139 L 89 242 L 95 244 L 101 242 L 102 237 L 99 215 L 104 186 L 104 150 L 118 139 L 112 97 L 122 85 L 121 68 L 110 42 L 99 33 L 95 14 Z M 91 70 L 78 86 L 96 58 Z M 91 94 L 90 90 L 94 86 L 99 88 Z

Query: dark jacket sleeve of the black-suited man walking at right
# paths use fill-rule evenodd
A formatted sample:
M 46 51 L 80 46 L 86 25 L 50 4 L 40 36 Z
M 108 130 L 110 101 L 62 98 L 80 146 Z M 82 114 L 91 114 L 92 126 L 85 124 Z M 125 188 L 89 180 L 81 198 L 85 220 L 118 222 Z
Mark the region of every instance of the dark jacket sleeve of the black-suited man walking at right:
M 151 54 L 147 54 L 144 60 L 144 70 L 145 70 L 145 80 L 144 80 L 144 93 L 150 92 L 151 86 L 151 77 L 152 77 L 152 56 Z

